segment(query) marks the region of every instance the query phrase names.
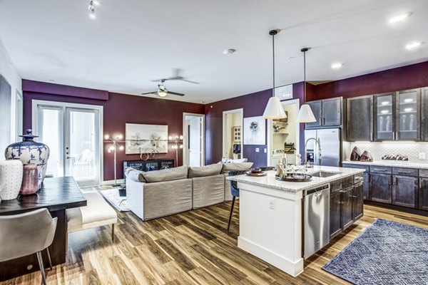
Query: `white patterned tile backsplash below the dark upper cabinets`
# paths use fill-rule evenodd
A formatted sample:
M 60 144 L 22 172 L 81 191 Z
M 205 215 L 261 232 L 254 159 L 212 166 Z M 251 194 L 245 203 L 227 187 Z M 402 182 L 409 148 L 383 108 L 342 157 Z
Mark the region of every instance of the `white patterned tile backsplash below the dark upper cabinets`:
M 343 160 L 350 160 L 355 146 L 370 152 L 373 160 L 382 160 L 384 155 L 408 155 L 409 161 L 428 163 L 428 142 L 343 142 Z M 419 160 L 420 152 L 425 153 L 426 160 Z

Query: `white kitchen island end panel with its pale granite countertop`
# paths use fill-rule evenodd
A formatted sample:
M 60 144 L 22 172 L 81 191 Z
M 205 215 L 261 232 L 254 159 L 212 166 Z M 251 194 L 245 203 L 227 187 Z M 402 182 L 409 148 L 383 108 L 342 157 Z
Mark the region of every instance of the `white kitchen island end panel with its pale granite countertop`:
M 274 171 L 268 171 L 263 177 L 228 177 L 238 182 L 240 190 L 238 247 L 291 276 L 302 273 L 303 193 L 364 172 L 355 168 L 315 166 L 307 173 L 318 171 L 333 175 L 314 176 L 310 182 L 278 181 Z

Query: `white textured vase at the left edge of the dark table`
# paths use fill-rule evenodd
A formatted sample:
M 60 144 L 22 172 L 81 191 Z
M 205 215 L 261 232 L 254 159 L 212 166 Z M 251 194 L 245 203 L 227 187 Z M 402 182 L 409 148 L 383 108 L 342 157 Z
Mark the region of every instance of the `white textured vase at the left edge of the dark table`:
M 16 199 L 22 183 L 22 162 L 20 160 L 0 161 L 0 199 Z

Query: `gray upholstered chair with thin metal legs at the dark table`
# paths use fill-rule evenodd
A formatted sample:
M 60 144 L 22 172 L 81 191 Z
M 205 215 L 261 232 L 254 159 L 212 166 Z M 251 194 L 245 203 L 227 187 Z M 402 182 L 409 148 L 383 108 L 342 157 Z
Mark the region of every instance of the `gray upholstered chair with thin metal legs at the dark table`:
M 46 285 L 41 252 L 47 250 L 49 264 L 52 266 L 48 247 L 54 241 L 56 220 L 56 217 L 52 219 L 46 208 L 0 216 L 0 262 L 36 253 L 41 279 Z

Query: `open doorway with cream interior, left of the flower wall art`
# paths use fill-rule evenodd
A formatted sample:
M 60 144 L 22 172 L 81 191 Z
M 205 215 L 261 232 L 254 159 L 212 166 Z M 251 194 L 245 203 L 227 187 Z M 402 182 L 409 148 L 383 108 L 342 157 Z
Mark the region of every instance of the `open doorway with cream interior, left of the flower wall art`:
M 230 160 L 243 158 L 244 110 L 223 111 L 223 157 Z

